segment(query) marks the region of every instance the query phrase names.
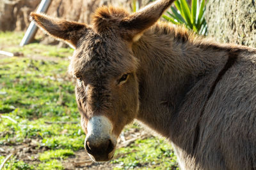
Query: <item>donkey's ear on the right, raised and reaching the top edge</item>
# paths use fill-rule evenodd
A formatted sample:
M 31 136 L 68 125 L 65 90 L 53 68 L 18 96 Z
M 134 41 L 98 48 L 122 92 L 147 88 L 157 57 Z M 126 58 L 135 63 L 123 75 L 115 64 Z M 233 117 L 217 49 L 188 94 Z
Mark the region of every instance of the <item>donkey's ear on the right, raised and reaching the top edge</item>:
M 158 0 L 154 3 L 148 4 L 140 11 L 125 17 L 120 22 L 120 27 L 123 27 L 134 40 L 138 39 L 145 29 L 153 25 L 161 17 L 163 12 L 175 0 Z

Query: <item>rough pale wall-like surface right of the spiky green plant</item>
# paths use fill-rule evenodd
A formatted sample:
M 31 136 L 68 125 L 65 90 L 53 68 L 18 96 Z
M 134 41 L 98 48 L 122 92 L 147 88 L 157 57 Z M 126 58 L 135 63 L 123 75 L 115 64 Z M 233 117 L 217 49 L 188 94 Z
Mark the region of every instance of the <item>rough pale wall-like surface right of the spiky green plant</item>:
M 255 0 L 209 0 L 205 18 L 208 36 L 221 43 L 256 47 Z

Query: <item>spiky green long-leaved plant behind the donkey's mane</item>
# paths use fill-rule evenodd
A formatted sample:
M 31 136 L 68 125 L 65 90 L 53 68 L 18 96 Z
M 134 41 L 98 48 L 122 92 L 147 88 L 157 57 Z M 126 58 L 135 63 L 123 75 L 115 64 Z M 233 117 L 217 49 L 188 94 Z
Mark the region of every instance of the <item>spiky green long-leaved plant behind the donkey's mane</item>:
M 171 6 L 172 13 L 167 11 L 169 16 L 163 15 L 165 20 L 176 25 L 184 24 L 198 34 L 207 33 L 207 23 L 204 18 L 205 0 L 192 0 L 191 7 L 186 0 L 177 0 L 174 4 L 177 10 Z

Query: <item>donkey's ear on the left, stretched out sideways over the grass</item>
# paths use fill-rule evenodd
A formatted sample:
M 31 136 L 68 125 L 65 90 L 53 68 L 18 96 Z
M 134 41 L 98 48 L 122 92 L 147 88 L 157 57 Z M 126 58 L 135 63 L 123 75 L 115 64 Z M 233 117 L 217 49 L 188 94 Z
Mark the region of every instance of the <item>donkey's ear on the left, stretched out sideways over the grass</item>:
M 47 34 L 56 39 L 64 40 L 66 43 L 76 47 L 77 41 L 86 34 L 86 24 L 78 22 L 69 22 L 59 18 L 48 17 L 44 14 L 31 13 L 30 20 L 35 21 Z

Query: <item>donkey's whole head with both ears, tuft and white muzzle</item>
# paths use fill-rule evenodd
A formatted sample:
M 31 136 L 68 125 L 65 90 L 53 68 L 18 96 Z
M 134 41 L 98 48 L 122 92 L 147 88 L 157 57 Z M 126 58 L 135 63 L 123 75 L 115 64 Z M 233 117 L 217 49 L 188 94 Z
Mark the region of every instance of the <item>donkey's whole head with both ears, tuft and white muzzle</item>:
M 132 43 L 171 3 L 156 1 L 132 15 L 102 7 L 95 12 L 93 25 L 31 13 L 47 34 L 76 48 L 69 69 L 77 78 L 84 148 L 95 161 L 113 157 L 120 132 L 138 114 L 136 70 L 140 61 L 132 55 Z

